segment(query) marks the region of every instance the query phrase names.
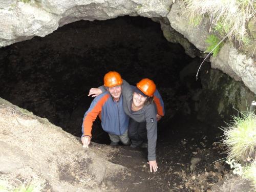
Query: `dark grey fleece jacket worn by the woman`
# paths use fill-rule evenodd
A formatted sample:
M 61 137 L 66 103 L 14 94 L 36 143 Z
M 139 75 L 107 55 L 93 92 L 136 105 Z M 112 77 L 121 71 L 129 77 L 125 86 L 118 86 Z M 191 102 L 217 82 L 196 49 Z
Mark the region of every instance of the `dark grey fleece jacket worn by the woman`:
M 105 92 L 105 87 L 99 89 Z M 157 110 L 155 103 L 144 105 L 139 111 L 131 113 L 131 104 L 133 100 L 133 87 L 123 80 L 122 88 L 124 112 L 137 122 L 146 122 L 147 130 L 147 159 L 148 161 L 156 160 L 156 143 L 157 143 Z

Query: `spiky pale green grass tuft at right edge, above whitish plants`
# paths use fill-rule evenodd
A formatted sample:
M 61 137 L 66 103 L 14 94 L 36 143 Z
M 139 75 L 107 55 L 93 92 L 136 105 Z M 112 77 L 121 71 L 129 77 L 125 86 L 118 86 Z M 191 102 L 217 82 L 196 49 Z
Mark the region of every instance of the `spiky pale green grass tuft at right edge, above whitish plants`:
M 256 149 L 256 115 L 253 112 L 240 112 L 233 116 L 228 127 L 223 127 L 223 144 L 228 148 L 228 159 L 247 161 L 254 159 Z

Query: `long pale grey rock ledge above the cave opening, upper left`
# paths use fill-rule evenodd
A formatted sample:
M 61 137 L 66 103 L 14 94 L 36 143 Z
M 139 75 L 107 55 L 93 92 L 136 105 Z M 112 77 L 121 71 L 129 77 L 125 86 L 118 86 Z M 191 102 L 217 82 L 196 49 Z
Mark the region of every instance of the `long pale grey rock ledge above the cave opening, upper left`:
M 123 15 L 165 17 L 171 4 L 168 0 L 31 0 L 29 3 L 8 0 L 1 5 L 0 47 L 33 36 L 44 37 L 60 26 L 81 19 L 105 20 Z

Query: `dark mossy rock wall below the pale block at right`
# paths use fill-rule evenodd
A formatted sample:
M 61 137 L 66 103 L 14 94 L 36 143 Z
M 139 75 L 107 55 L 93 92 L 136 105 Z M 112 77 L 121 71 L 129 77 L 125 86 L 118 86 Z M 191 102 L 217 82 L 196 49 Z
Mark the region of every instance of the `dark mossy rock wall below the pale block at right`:
M 206 69 L 201 72 L 203 92 L 199 96 L 199 120 L 216 127 L 225 125 L 231 115 L 245 111 L 256 99 L 242 81 L 236 81 L 217 69 Z

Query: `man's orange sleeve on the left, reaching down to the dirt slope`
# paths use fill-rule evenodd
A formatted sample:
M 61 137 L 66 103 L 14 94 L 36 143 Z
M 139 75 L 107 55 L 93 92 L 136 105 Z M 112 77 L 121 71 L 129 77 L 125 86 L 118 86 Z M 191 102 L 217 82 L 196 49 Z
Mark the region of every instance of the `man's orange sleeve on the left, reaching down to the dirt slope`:
M 86 112 L 86 115 L 83 118 L 83 135 L 89 135 L 92 137 L 92 125 L 97 116 L 101 113 L 102 106 L 108 100 L 109 94 L 104 95 L 100 100 L 93 106 L 93 108 Z M 91 108 L 91 106 L 90 106 Z

